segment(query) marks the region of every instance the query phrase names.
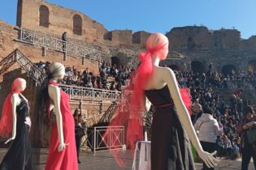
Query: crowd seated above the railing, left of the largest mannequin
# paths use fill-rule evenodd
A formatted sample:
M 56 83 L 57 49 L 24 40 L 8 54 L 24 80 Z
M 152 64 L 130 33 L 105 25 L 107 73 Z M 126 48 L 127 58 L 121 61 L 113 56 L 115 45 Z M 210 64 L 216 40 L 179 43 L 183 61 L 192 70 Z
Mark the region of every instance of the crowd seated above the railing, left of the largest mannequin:
M 50 62 L 38 62 L 36 65 L 43 73 L 47 74 Z M 98 74 L 93 73 L 89 68 L 79 70 L 76 66 L 65 66 L 66 75 L 62 83 L 79 87 L 122 91 L 122 86 L 127 84 L 127 79 L 133 70 L 132 67 L 111 66 L 106 62 L 100 64 Z M 113 79 L 109 80 L 109 77 Z

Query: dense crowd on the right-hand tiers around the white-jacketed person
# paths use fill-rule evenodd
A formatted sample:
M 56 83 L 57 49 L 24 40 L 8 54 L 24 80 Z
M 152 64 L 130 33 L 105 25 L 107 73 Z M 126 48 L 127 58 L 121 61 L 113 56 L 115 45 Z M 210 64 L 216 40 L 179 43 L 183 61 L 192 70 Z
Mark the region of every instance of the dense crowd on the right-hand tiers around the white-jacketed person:
M 255 84 L 255 74 L 252 72 L 232 70 L 230 74 L 220 74 L 209 69 L 206 73 L 193 74 L 193 72 L 181 72 L 175 70 L 176 78 L 182 87 L 189 87 L 193 99 L 192 121 L 198 132 L 199 140 L 203 142 L 212 141 L 216 137 L 217 155 L 219 157 L 239 157 L 241 152 L 241 133 L 239 133 L 239 122 L 245 117 L 245 108 L 250 107 L 249 99 L 243 100 L 242 88 L 233 91 L 229 100 L 221 98 L 218 91 L 213 87 L 227 88 L 228 81 L 244 81 Z M 206 115 L 204 115 L 206 113 Z M 210 115 L 210 116 L 209 116 Z M 200 118 L 201 117 L 201 118 Z M 215 119 L 211 125 L 212 118 Z M 205 125 L 202 122 L 207 122 Z M 211 123 L 210 123 L 211 122 Z M 200 126 L 204 126 L 200 128 Z M 209 126 L 210 125 L 210 126 Z M 218 126 L 218 127 L 217 127 Z M 210 134 L 210 129 L 215 137 Z M 204 131 L 206 132 L 204 134 Z M 201 134 L 200 134 L 201 133 Z M 210 145 L 207 146 L 210 148 Z

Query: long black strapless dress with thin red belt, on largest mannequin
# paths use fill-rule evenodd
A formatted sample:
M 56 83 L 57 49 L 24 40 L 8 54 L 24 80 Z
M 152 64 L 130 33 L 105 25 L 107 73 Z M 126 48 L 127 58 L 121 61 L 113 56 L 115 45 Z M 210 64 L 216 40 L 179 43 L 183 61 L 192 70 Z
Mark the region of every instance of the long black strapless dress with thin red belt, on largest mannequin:
M 167 86 L 145 91 L 155 106 L 152 123 L 151 169 L 194 170 L 190 142 L 174 109 Z

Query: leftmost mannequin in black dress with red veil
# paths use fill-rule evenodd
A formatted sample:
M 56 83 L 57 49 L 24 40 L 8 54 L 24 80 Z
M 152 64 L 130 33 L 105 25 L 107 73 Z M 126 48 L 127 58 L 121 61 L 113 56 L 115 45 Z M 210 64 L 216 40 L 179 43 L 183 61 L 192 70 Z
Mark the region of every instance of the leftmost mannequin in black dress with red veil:
M 2 159 L 0 170 L 33 170 L 33 154 L 28 138 L 31 127 L 28 100 L 21 94 L 25 88 L 24 79 L 15 79 L 2 107 L 0 136 L 7 138 L 11 134 L 7 142 L 13 141 Z

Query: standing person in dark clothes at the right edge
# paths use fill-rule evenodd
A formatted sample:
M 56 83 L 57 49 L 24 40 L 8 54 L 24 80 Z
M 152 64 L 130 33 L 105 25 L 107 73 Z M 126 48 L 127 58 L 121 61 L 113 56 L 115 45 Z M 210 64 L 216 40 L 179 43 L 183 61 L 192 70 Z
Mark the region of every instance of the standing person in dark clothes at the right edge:
M 242 162 L 241 170 L 248 170 L 249 160 L 254 159 L 254 168 L 256 169 L 256 151 L 253 143 L 249 143 L 247 131 L 256 126 L 256 117 L 254 117 L 254 108 L 246 106 L 244 109 L 244 117 L 241 118 L 237 125 L 236 132 L 241 137 L 241 153 Z

